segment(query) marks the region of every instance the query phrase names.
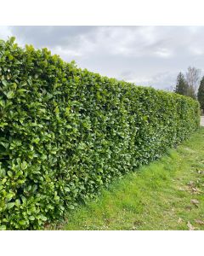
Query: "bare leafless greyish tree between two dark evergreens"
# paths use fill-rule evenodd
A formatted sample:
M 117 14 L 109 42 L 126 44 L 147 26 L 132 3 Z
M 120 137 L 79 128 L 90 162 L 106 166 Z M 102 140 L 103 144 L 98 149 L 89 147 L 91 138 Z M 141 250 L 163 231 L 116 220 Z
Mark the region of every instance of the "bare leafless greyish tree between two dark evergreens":
M 186 82 L 188 84 L 187 96 L 196 98 L 197 87 L 201 76 L 201 69 L 189 67 L 186 73 Z

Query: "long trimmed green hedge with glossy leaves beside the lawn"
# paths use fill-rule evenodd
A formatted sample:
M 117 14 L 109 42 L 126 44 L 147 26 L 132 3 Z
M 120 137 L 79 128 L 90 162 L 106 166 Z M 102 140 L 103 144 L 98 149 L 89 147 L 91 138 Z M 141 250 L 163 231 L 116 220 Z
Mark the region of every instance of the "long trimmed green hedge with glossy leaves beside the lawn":
M 37 230 L 199 126 L 199 104 L 0 41 L 0 229 Z

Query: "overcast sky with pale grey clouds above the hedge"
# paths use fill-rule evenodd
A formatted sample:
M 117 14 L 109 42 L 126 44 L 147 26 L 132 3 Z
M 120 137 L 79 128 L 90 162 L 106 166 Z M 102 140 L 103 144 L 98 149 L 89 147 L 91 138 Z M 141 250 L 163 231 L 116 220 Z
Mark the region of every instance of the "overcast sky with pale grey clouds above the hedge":
M 204 26 L 0 26 L 0 38 L 10 36 L 78 67 L 162 90 L 189 66 L 204 70 Z

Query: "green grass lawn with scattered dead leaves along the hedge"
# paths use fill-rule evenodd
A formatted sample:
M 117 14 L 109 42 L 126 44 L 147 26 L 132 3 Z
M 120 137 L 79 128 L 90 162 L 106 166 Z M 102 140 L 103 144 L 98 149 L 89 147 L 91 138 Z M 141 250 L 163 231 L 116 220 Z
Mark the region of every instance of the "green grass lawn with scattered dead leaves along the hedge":
M 204 128 L 49 229 L 204 230 Z

